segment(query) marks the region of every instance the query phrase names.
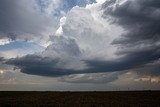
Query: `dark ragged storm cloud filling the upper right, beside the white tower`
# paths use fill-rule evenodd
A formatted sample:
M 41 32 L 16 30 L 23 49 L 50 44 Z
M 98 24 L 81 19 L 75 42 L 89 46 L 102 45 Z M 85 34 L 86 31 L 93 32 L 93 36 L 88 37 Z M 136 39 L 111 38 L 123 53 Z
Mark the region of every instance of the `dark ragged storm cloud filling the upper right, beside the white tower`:
M 117 0 L 110 0 L 102 8 L 106 19 L 122 26 L 127 32 L 112 43 L 119 46 L 120 51 L 117 54 L 127 55 L 127 59 L 130 59 L 128 63 L 122 63 L 124 67 L 121 67 L 143 65 L 138 70 L 141 71 L 140 74 L 159 75 L 159 63 L 149 66 L 147 64 L 160 58 L 160 1 L 128 0 L 119 4 Z

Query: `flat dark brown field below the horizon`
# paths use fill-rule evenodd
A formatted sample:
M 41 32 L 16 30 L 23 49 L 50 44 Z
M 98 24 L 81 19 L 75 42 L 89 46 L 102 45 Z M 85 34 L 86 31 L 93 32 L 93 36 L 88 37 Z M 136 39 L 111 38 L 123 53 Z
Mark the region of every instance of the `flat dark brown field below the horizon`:
M 0 92 L 0 107 L 160 107 L 160 91 Z

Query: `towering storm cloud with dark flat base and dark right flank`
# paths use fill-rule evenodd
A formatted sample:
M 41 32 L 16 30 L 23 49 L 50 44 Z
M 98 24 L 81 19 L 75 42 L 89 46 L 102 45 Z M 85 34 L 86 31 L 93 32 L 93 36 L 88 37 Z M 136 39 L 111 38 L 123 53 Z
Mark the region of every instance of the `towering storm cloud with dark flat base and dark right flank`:
M 158 0 L 128 0 L 123 4 L 106 1 L 102 5 L 104 20 L 125 30 L 121 36 L 110 40 L 116 35 L 109 35 L 103 24 L 92 17 L 91 10 L 75 7 L 62 26 L 63 35 L 53 38 L 53 44 L 46 51 L 39 56 L 10 59 L 7 63 L 24 73 L 44 76 L 140 69 L 150 63 L 153 64 L 149 66 L 153 70 L 150 73 L 157 73 L 159 68 L 153 62 L 160 58 L 159 8 Z M 110 59 L 109 54 L 102 59 L 109 52 L 116 57 Z

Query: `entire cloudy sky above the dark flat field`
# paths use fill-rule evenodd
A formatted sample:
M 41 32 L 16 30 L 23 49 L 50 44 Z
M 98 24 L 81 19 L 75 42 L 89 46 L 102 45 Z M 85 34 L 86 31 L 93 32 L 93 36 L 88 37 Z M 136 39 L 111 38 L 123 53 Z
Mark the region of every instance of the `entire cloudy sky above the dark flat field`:
M 159 0 L 0 0 L 0 90 L 159 90 L 159 28 Z

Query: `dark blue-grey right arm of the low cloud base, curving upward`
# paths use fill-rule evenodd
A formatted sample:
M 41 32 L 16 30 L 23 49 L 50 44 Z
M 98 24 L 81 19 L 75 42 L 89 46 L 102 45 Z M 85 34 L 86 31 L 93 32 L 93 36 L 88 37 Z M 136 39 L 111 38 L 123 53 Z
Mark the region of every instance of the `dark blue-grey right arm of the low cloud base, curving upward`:
M 144 66 L 154 60 L 159 59 L 160 52 L 157 48 L 127 53 L 126 56 L 115 61 L 88 61 L 91 66 L 90 71 L 111 72 L 134 69 Z

